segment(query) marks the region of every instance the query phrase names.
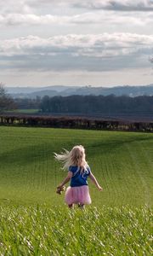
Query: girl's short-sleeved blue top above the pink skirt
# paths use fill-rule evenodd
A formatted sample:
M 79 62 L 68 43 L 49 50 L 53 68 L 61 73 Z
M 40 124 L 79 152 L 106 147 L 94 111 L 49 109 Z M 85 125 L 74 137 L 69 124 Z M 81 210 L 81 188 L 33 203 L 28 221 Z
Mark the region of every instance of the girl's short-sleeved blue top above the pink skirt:
M 81 167 L 78 166 L 70 166 L 69 172 L 72 172 L 71 177 L 71 187 L 80 187 L 84 185 L 88 185 L 88 176 L 90 175 L 90 167 L 88 166 L 87 170 L 83 170 L 81 172 Z

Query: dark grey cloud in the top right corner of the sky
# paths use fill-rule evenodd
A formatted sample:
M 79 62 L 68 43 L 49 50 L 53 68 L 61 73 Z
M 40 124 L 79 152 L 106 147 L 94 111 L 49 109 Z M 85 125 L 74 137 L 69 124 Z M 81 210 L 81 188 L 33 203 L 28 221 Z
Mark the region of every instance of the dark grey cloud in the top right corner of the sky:
M 73 3 L 76 8 L 107 9 L 116 11 L 153 11 L 152 0 L 88 0 Z

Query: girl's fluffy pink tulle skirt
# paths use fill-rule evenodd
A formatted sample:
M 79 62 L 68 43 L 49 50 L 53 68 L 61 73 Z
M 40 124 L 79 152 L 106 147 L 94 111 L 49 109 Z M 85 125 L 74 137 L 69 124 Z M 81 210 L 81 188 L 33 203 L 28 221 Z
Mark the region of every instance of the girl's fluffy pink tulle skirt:
M 88 186 L 68 187 L 65 191 L 65 203 L 68 205 L 78 203 L 83 205 L 91 204 Z

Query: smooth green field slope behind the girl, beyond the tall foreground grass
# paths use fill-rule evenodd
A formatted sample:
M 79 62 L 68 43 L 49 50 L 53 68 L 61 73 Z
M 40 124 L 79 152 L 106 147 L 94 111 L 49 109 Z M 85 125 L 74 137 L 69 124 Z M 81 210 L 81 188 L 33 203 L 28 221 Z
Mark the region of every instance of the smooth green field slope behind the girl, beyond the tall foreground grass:
M 65 177 L 54 152 L 82 144 L 104 192 L 89 182 L 93 205 L 152 206 L 153 135 L 133 132 L 0 127 L 0 201 L 64 205 Z

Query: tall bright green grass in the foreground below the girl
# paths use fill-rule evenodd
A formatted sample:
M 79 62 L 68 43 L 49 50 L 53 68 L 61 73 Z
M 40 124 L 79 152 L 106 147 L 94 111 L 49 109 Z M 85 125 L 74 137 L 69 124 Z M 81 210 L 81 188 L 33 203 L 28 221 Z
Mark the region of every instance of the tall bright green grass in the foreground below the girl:
M 0 255 L 151 255 L 148 207 L 0 207 Z

